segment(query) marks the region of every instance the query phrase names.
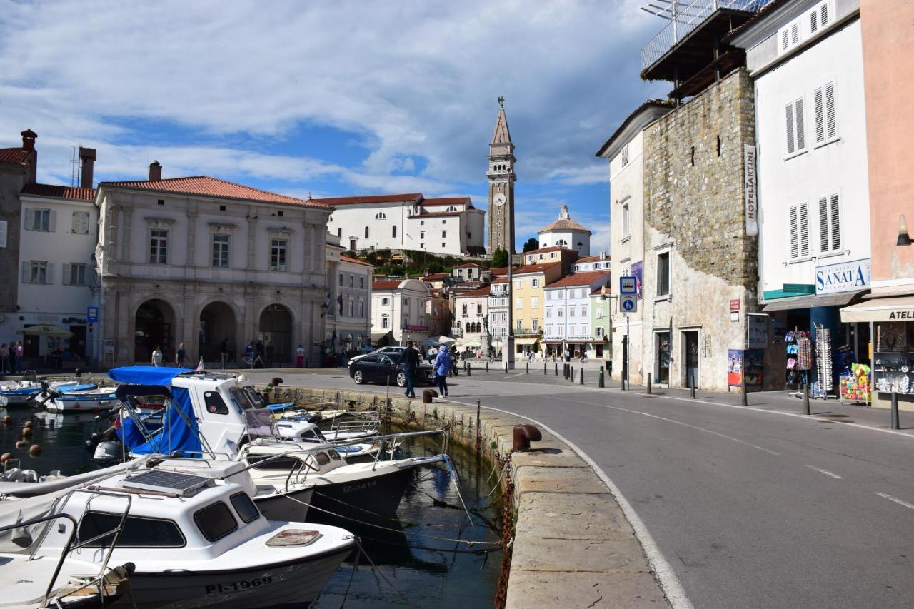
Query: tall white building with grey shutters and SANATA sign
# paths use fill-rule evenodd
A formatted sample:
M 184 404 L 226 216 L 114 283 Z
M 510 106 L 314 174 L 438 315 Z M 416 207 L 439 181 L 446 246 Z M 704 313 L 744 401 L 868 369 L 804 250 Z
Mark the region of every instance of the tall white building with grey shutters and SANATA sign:
M 838 320 L 839 306 L 869 289 L 859 1 L 782 2 L 734 44 L 755 85 L 760 303 L 781 327 L 830 328 L 833 348 L 850 345 L 864 361 L 868 324 Z

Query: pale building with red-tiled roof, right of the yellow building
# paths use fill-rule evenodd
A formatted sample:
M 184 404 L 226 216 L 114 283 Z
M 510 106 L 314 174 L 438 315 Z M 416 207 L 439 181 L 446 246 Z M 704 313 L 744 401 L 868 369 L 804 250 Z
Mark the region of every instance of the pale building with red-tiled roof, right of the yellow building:
M 590 293 L 609 281 L 610 272 L 590 271 L 577 272 L 547 284 L 543 307 L 543 338 L 547 352 L 561 355 L 569 351 L 573 358 L 585 353 L 591 358 L 595 356 L 590 328 Z

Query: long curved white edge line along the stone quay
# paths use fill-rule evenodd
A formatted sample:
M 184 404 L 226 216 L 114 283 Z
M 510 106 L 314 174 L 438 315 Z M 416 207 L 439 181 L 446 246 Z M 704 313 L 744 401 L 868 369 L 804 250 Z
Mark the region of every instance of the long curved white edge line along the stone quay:
M 475 406 L 475 404 L 470 404 L 465 401 L 453 402 L 464 406 Z M 613 484 L 610 476 L 606 475 L 606 472 L 600 468 L 600 465 L 597 465 L 597 463 L 590 458 L 589 454 L 579 449 L 574 443 L 569 442 L 569 439 L 562 434 L 536 419 L 531 419 L 530 417 L 526 417 L 523 414 L 517 414 L 516 412 L 505 411 L 501 408 L 493 408 L 491 406 L 483 406 L 483 408 L 488 411 L 505 412 L 505 414 L 511 414 L 515 417 L 526 419 L 529 422 L 539 425 L 539 427 L 546 430 L 548 433 L 551 433 L 562 442 L 568 444 L 571 447 L 571 450 L 577 453 L 587 465 L 590 465 L 590 467 L 593 468 L 593 471 L 600 476 L 600 480 L 603 481 L 603 484 L 609 487 L 612 495 L 616 497 L 616 502 L 619 504 L 619 507 L 622 508 L 622 513 L 625 515 L 625 518 L 628 519 L 629 524 L 632 525 L 634 536 L 641 542 L 641 547 L 644 550 L 644 556 L 647 559 L 647 563 L 654 572 L 657 581 L 660 583 L 660 588 L 663 590 L 670 606 L 673 607 L 673 609 L 694 609 L 694 605 L 688 600 L 688 596 L 685 595 L 685 589 L 676 577 L 673 567 L 671 567 L 670 563 L 664 558 L 663 552 L 660 551 L 656 541 L 651 537 L 651 533 L 648 532 L 647 527 L 644 526 L 642 519 L 638 517 L 638 514 L 634 511 L 634 508 L 632 508 L 632 504 L 622 495 L 622 491 L 619 490 L 618 486 Z

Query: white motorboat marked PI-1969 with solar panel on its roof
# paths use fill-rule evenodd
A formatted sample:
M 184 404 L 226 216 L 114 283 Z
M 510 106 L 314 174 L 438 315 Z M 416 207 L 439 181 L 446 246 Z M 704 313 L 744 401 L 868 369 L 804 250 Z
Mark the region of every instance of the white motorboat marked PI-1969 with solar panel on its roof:
M 313 602 L 356 547 L 355 538 L 331 526 L 267 520 L 251 501 L 254 486 L 243 468 L 233 473 L 237 465 L 221 465 L 228 462 L 195 461 L 188 467 L 183 459 L 163 459 L 59 498 L 56 513 L 72 518 L 80 540 L 69 558 L 95 572 L 104 561 L 133 563 L 129 593 L 110 605 L 115 607 L 241 609 Z M 73 526 L 45 529 L 33 556 L 59 556 L 68 549 Z M 0 554 L 0 578 L 7 582 L 4 596 L 11 598 L 19 584 L 2 571 L 5 558 Z

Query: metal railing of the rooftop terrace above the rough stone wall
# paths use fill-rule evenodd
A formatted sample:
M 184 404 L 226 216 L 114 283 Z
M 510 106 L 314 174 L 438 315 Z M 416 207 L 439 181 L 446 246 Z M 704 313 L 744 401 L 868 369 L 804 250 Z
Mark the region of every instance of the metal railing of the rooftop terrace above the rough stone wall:
M 691 34 L 717 10 L 731 9 L 758 13 L 771 0 L 653 0 L 643 10 L 670 22 L 641 48 L 641 67 L 648 69 L 676 43 Z

